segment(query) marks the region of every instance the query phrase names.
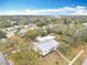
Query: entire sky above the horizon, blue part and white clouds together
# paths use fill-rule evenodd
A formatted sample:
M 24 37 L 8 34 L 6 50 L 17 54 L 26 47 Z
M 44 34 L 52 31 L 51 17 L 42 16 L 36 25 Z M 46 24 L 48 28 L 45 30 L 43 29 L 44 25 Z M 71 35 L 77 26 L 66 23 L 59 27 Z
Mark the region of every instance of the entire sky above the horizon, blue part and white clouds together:
M 0 15 L 87 15 L 87 0 L 0 0 Z

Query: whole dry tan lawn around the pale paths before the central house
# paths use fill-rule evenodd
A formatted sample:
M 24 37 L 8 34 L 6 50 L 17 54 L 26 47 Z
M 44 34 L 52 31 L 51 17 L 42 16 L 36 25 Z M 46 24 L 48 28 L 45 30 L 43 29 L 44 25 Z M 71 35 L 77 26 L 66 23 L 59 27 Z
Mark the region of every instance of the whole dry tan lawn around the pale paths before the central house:
M 79 45 L 79 47 L 69 47 L 68 53 L 64 56 L 72 61 L 83 48 L 83 45 Z M 87 57 L 87 45 L 84 50 L 85 52 L 74 62 L 74 65 L 81 65 L 83 61 Z M 40 57 L 37 65 L 68 65 L 68 63 L 57 52 L 52 52 L 45 57 Z

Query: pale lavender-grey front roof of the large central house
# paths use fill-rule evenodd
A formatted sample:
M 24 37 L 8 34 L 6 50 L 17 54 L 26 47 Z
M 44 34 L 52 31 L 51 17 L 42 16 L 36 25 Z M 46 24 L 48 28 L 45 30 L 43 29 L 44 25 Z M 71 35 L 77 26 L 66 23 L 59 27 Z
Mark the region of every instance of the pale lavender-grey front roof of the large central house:
M 55 40 L 46 41 L 46 42 L 41 42 L 37 47 L 42 52 L 46 52 L 52 50 L 53 47 L 57 46 L 59 43 L 57 43 Z

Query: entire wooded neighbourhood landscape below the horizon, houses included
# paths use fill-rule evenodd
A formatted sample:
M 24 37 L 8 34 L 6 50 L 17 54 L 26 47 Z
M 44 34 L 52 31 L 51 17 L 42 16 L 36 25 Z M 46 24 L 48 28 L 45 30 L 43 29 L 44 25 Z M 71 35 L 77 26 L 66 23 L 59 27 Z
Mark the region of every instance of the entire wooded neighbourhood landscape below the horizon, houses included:
M 0 25 L 1 64 L 84 64 L 87 58 L 87 23 L 84 21 L 87 17 L 33 17 L 31 23 L 28 18 L 19 17 L 24 21 L 21 24 L 14 22 L 13 26 L 3 22 L 4 25 Z M 14 17 L 9 19 L 18 20 Z

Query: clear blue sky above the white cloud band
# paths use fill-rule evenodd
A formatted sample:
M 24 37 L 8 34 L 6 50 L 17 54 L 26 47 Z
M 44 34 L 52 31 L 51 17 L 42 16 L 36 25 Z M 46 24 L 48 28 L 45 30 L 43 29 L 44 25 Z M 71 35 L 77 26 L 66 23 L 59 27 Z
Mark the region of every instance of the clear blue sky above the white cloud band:
M 62 7 L 87 7 L 87 0 L 0 0 L 0 9 L 54 9 Z

